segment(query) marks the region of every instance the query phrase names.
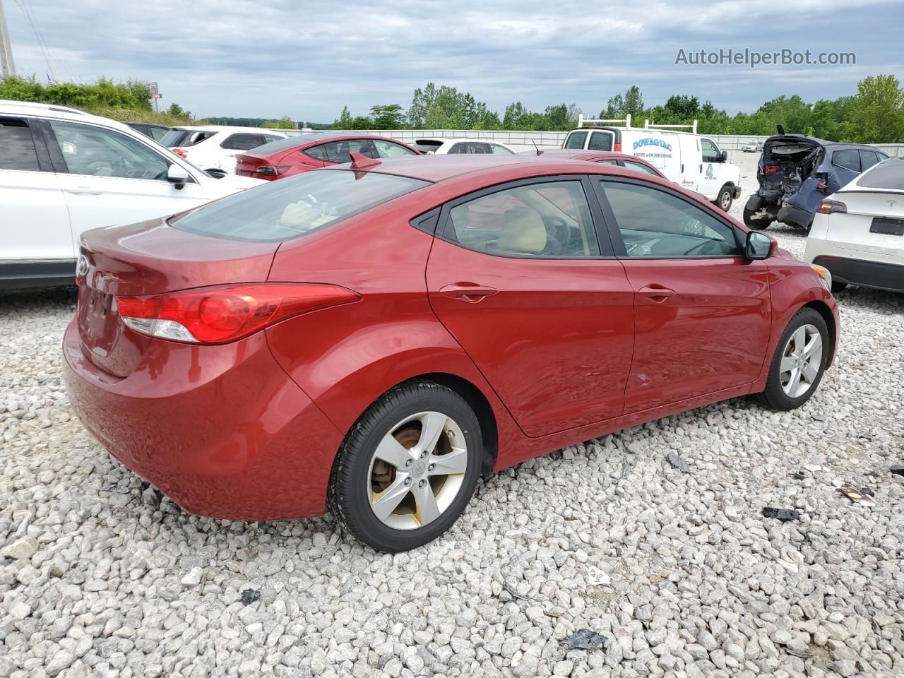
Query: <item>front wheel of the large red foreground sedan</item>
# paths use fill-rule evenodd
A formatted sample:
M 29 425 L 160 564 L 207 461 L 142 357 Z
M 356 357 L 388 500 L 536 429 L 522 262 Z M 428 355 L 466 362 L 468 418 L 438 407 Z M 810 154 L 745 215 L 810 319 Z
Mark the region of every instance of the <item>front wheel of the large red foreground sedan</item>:
M 829 328 L 813 308 L 801 308 L 778 341 L 759 399 L 773 410 L 795 410 L 823 380 L 829 354 Z

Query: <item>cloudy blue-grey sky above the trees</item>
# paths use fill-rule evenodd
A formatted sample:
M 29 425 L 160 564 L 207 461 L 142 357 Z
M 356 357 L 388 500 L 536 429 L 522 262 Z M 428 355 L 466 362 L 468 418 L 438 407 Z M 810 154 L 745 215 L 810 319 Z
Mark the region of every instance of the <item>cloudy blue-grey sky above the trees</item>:
M 596 115 L 636 84 L 648 105 L 687 93 L 734 114 L 779 94 L 852 94 L 866 75 L 904 80 L 899 2 L 0 2 L 19 74 L 156 80 L 164 104 L 196 116 L 331 122 L 344 105 L 408 108 L 430 80 L 500 112 L 564 101 Z M 730 48 L 855 52 L 856 65 L 675 64 L 679 50 Z

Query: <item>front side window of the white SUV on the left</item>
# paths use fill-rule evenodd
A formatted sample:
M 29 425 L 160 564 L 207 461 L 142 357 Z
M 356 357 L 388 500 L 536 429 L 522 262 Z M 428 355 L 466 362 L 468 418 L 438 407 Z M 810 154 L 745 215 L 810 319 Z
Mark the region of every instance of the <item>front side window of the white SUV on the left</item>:
M 70 174 L 166 181 L 169 162 L 137 139 L 102 127 L 50 124 Z

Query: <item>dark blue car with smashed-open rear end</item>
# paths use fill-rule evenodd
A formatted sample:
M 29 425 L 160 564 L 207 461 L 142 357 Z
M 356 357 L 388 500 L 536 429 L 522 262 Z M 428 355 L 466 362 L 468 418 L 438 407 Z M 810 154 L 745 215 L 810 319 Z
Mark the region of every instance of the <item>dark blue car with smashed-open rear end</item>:
M 888 155 L 872 146 L 823 141 L 800 134 L 767 138 L 757 165 L 757 193 L 744 223 L 765 229 L 773 221 L 810 230 L 819 202 Z

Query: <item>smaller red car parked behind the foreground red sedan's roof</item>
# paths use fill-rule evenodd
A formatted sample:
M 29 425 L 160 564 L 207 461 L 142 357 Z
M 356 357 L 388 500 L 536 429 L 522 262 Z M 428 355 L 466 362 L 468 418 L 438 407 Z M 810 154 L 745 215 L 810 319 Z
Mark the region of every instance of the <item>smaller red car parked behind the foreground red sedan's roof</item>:
M 248 153 L 236 155 L 235 174 L 273 181 L 320 167 L 347 163 L 352 153 L 373 159 L 422 155 L 411 146 L 389 137 L 309 134 L 271 141 Z

